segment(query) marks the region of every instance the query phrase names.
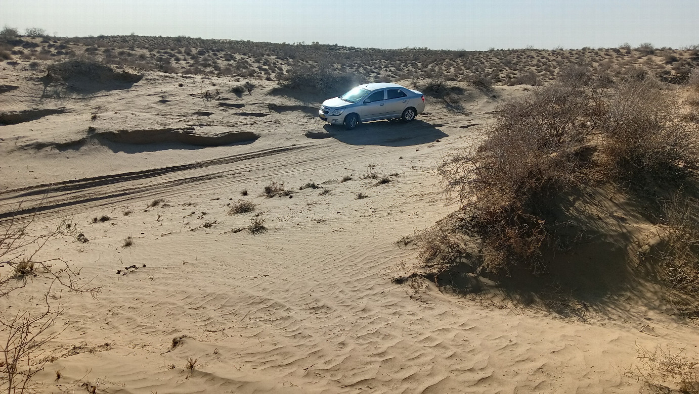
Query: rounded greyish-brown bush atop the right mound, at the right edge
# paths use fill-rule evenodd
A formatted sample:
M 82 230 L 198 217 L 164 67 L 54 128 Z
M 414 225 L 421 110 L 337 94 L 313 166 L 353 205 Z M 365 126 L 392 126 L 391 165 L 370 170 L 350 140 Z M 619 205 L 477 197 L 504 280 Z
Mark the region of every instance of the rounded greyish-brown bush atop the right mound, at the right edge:
M 629 82 L 611 92 L 598 126 L 608 170 L 624 180 L 699 169 L 696 124 L 683 122 L 675 96 L 651 82 Z

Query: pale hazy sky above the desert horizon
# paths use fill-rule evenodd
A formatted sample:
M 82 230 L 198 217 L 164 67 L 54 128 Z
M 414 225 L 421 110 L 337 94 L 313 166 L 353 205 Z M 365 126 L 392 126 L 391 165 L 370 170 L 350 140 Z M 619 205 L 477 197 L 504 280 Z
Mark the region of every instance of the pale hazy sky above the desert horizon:
M 374 48 L 699 44 L 699 0 L 0 0 L 0 25 Z

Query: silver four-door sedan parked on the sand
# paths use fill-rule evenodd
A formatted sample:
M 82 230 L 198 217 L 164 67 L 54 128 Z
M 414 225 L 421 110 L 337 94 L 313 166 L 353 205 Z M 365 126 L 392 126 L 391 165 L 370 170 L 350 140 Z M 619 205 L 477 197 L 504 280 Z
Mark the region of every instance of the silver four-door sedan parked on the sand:
M 342 96 L 323 101 L 318 117 L 352 130 L 360 122 L 401 118 L 410 122 L 425 110 L 425 96 L 395 83 L 359 85 Z

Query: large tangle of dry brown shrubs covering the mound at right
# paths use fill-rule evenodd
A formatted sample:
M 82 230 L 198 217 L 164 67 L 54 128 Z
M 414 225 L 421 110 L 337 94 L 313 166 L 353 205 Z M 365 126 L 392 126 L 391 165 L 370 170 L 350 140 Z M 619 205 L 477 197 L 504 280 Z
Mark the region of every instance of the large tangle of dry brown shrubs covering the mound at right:
M 417 236 L 426 265 L 547 275 L 556 251 L 574 250 L 585 236 L 562 228 L 604 216 L 626 220 L 600 210 L 598 199 L 611 193 L 633 200 L 633 210 L 661 228 L 642 257 L 648 277 L 675 294 L 669 299 L 684 314 L 696 313 L 699 124 L 683 115 L 680 92 L 583 68 L 500 105 L 480 139 L 436 169 L 447 200 L 460 209 Z M 580 212 L 578 196 L 593 200 L 587 204 L 597 205 L 596 217 Z

